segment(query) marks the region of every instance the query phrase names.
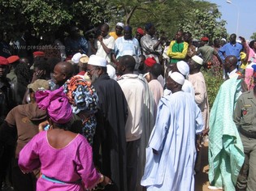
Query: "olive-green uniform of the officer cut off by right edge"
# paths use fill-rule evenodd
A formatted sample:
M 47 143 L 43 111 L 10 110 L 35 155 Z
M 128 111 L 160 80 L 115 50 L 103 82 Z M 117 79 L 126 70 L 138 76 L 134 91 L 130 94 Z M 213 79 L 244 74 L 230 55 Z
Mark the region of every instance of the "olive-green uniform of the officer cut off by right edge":
M 256 86 L 243 93 L 233 114 L 244 146 L 245 162 L 236 183 L 236 190 L 256 190 Z

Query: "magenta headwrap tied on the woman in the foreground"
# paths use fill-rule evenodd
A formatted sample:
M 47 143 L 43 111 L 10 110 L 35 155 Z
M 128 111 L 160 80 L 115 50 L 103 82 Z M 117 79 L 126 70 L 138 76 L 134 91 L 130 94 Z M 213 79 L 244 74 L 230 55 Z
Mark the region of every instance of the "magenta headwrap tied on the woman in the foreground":
M 46 109 L 52 121 L 65 124 L 72 119 L 72 108 L 68 103 L 63 88 L 55 91 L 37 91 L 36 101 L 38 108 Z

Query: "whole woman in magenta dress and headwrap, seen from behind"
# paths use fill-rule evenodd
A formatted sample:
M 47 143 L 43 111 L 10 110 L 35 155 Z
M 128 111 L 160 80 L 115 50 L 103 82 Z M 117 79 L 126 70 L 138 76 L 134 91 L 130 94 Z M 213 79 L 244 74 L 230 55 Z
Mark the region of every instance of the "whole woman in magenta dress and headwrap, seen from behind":
M 39 108 L 46 109 L 50 130 L 37 134 L 20 151 L 19 165 L 23 172 L 41 168 L 37 190 L 86 190 L 111 180 L 93 166 L 92 148 L 86 138 L 68 130 L 72 108 L 60 88 L 37 91 Z

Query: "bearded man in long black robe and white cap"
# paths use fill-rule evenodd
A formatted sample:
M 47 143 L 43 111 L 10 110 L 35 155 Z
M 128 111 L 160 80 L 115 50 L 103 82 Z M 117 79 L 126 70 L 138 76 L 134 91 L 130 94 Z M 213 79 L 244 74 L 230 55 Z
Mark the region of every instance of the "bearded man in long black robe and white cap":
M 92 55 L 87 66 L 98 93 L 97 128 L 93 139 L 94 165 L 111 177 L 105 190 L 127 191 L 125 123 L 128 105 L 124 92 L 106 73 L 106 59 Z

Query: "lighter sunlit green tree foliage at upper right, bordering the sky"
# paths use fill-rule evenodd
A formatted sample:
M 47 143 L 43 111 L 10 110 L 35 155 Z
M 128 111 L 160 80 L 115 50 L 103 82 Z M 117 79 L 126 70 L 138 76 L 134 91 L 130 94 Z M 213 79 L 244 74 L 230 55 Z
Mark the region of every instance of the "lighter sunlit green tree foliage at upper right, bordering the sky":
M 225 21 L 214 3 L 206 1 L 179 0 L 111 0 L 111 23 L 124 21 L 134 27 L 143 27 L 152 22 L 158 31 L 172 38 L 182 28 L 194 38 L 209 36 L 210 39 L 227 36 Z

